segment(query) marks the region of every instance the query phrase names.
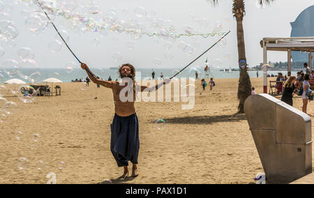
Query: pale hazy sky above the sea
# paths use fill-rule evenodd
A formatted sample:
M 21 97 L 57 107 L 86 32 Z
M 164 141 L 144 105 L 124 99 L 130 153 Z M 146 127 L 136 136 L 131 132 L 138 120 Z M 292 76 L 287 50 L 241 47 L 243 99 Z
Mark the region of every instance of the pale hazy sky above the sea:
M 0 0 L 1 1 L 1 0 Z M 3 0 L 3 3 L 12 2 Z M 88 4 L 90 1 L 79 0 L 82 4 Z M 206 0 L 115 0 L 104 1 L 94 0 L 100 6 L 100 10 L 105 12 L 114 8 L 117 10 L 118 19 L 127 20 L 134 17 L 133 10 L 142 6 L 150 15 L 151 10 L 156 12 L 154 17 L 163 18 L 163 20 L 171 20 L 178 32 L 184 31 L 184 26 L 193 26 L 202 33 L 211 33 L 214 29 L 215 22 L 219 21 L 223 24 L 223 31 L 231 30 L 227 36 L 227 45 L 225 49 L 214 47 L 205 54 L 200 61 L 194 66 L 203 66 L 204 60 L 209 62 L 214 59 L 220 59 L 223 66 L 221 68 L 237 68 L 237 34 L 236 22 L 232 18 L 232 1 L 219 1 L 218 6 L 211 6 Z M 68 52 L 65 46 L 57 53 L 50 52 L 48 43 L 54 40 L 56 33 L 54 29 L 45 30 L 39 36 L 31 36 L 30 31 L 25 27 L 24 18 L 20 12 L 22 10 L 31 10 L 24 5 L 13 4 L 12 10 L 4 10 L 10 14 L 11 19 L 15 22 L 19 31 L 19 36 L 15 39 L 16 47 L 8 47 L 6 43 L 1 43 L 1 47 L 6 54 L 0 58 L 0 62 L 6 59 L 18 59 L 17 50 L 19 47 L 31 47 L 35 53 L 35 60 L 40 68 L 63 68 L 69 61 L 75 61 L 72 54 Z M 257 8 L 255 0 L 246 1 L 246 16 L 244 17 L 244 36 L 246 43 L 246 59 L 250 66 L 256 66 L 262 62 L 262 48 L 260 40 L 265 37 L 290 37 L 290 22 L 296 20 L 302 10 L 313 5 L 313 0 L 276 0 L 267 8 Z M 12 7 L 12 6 L 11 6 Z M 121 9 L 128 8 L 128 14 L 122 15 Z M 197 18 L 207 18 L 209 26 L 200 28 L 193 25 L 191 13 Z M 139 19 L 140 20 L 140 19 Z M 63 27 L 60 19 L 55 21 L 56 26 L 60 29 Z M 59 24 L 60 23 L 60 24 Z M 68 44 L 77 54 L 81 61 L 86 62 L 92 68 L 109 68 L 119 66 L 121 63 L 132 63 L 137 68 L 183 68 L 187 63 L 207 50 L 218 37 L 202 38 L 184 38 L 186 43 L 196 47 L 196 50 L 190 56 L 184 54 L 177 47 L 179 40 L 173 43 L 170 53 L 174 56 L 172 60 L 165 59 L 164 41 L 159 41 L 143 36 L 140 40 L 135 40 L 134 49 L 129 50 L 127 42 L 130 36 L 121 33 L 108 33 L 106 36 L 100 36 L 99 33 L 85 33 L 78 35 L 74 31 L 67 29 L 70 33 Z M 313 35 L 314 36 L 314 35 Z M 98 46 L 94 45 L 92 40 L 97 38 L 100 40 Z M 112 55 L 116 52 L 121 53 L 121 61 L 114 61 Z M 229 58 L 226 54 L 229 53 Z M 154 59 L 160 59 L 160 66 L 154 66 Z M 284 52 L 269 52 L 269 61 L 287 61 L 287 54 Z

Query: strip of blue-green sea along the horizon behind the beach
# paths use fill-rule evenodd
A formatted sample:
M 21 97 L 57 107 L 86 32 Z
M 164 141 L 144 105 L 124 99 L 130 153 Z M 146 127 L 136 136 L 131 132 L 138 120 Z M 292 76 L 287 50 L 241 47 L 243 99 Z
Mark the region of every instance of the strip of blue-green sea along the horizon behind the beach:
M 118 75 L 118 68 L 91 68 L 91 71 L 100 77 L 100 79 L 108 79 L 111 77 L 112 80 L 119 79 Z M 211 69 L 208 73 L 205 73 L 204 70 L 198 69 L 198 68 L 186 68 L 186 70 L 183 70 L 181 73 L 179 73 L 179 70 L 176 68 L 158 68 L 154 69 L 155 72 L 155 79 L 157 77 L 160 77 L 160 74 L 163 73 L 163 77 L 172 77 L 173 75 L 176 75 L 176 77 L 193 77 L 195 78 L 195 71 L 198 73 L 198 78 L 211 78 L 214 79 L 221 79 L 221 78 L 239 78 L 239 71 L 232 71 L 231 73 L 220 71 L 217 69 Z M 136 77 L 135 79 L 149 79 L 151 78 L 151 73 L 153 72 L 152 69 L 147 68 L 137 68 L 136 69 Z M 57 79 L 60 79 L 62 82 L 72 82 L 75 79 L 86 79 L 87 73 L 84 72 L 84 70 L 77 68 L 73 70 L 66 70 L 63 68 L 43 68 L 39 70 L 20 70 L 20 74 L 18 73 L 11 73 L 11 75 L 7 75 L 7 73 L 3 72 L 3 70 L 0 70 L 0 83 L 6 82 L 8 79 L 22 79 L 24 82 L 28 82 L 27 77 L 29 79 L 35 79 L 34 83 L 40 83 L 44 79 L 54 77 Z M 276 71 L 276 70 L 269 70 L 267 72 L 268 75 L 278 75 L 278 73 L 283 73 L 283 75 L 287 74 L 287 71 Z M 262 71 L 248 71 L 248 75 L 251 78 L 257 77 L 263 77 Z M 297 71 L 292 71 L 292 75 L 297 75 Z

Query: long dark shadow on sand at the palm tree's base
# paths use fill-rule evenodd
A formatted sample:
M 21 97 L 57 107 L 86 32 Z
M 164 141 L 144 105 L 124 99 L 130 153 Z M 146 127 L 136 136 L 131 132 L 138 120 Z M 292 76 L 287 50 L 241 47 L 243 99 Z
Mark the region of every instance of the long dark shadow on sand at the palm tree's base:
M 219 122 L 237 122 L 246 120 L 245 114 L 232 114 L 222 116 L 186 116 L 166 119 L 167 123 L 177 124 L 211 124 Z

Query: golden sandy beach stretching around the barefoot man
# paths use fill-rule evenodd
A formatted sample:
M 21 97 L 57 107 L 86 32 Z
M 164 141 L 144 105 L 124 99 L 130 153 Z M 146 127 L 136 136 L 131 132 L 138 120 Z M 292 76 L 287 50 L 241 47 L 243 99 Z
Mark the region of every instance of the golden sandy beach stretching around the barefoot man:
M 49 172 L 57 175 L 57 183 L 255 183 L 255 175 L 264 170 L 246 116 L 235 114 L 238 81 L 215 79 L 214 91 L 208 86 L 202 91 L 197 80 L 190 110 L 182 110 L 181 102 L 136 102 L 139 176 L 126 180 L 117 180 L 123 169 L 110 152 L 110 89 L 90 84 L 82 91 L 80 83 L 63 83 L 61 96 L 36 97 L 29 104 L 8 95 L 18 108 L 0 124 L 0 183 L 46 183 Z M 251 82 L 262 93 L 262 78 Z M 295 96 L 294 107 L 301 105 Z M 309 102 L 308 114 L 314 115 L 313 105 Z M 156 128 L 158 119 L 167 123 L 163 130 Z M 34 134 L 40 135 L 38 142 Z M 17 159 L 22 157 L 29 163 L 21 171 Z M 47 167 L 38 170 L 38 160 Z M 59 162 L 66 163 L 61 170 Z

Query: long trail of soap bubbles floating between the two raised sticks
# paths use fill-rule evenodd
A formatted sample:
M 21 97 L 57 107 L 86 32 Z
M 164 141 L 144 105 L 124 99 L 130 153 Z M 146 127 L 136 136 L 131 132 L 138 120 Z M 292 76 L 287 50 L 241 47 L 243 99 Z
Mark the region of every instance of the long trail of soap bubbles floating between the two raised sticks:
M 155 10 L 149 12 L 142 7 L 134 8 L 133 12 L 128 8 L 121 8 L 121 10 L 110 8 L 109 10 L 102 12 L 94 1 L 91 1 L 91 3 L 87 5 L 83 5 L 76 0 L 45 0 L 40 1 L 40 5 L 38 5 L 38 3 L 28 3 L 28 5 L 35 6 L 37 9 L 44 8 L 52 21 L 56 17 L 63 17 L 66 19 L 64 25 L 68 29 L 79 34 L 87 31 L 100 33 L 100 36 L 106 36 L 108 32 L 128 34 L 130 35 L 130 40 L 126 42 L 126 47 L 130 50 L 134 49 L 135 40 L 139 40 L 142 36 L 150 36 L 156 40 L 156 43 L 159 43 L 160 41 L 163 42 L 163 46 L 166 50 L 163 56 L 167 61 L 173 59 L 174 56 L 172 52 L 170 52 L 170 49 L 172 48 L 172 45 L 174 45 L 174 42 L 182 36 L 202 36 L 207 38 L 217 34 L 219 36 L 223 35 L 223 24 L 221 22 L 215 23 L 214 30 L 211 33 L 200 33 L 197 29 L 208 28 L 209 22 L 206 18 L 195 17 L 193 14 L 190 15 L 193 19 L 193 24 L 178 29 L 174 26 L 172 21 L 158 18 Z M 133 13 L 133 16 L 125 19 L 130 13 Z M 25 15 L 25 12 L 23 15 Z M 34 13 L 27 17 L 32 19 L 29 20 L 29 23 L 31 24 L 28 26 L 30 31 L 37 32 L 47 28 L 47 25 L 45 24 L 49 23 L 49 20 L 47 20 L 47 17 L 44 17 L 43 13 Z M 34 26 L 36 29 L 33 28 Z M 66 41 L 69 38 L 68 33 L 66 32 L 61 33 L 61 36 L 64 36 Z M 98 46 L 100 44 L 100 39 L 94 38 L 91 40 L 91 43 Z M 195 45 L 200 45 L 200 43 L 198 42 Z M 181 41 L 178 47 L 179 50 L 190 55 L 195 52 L 195 47 L 197 47 L 195 45 L 193 46 L 191 43 Z M 221 44 L 222 47 L 223 45 L 224 44 Z M 56 38 L 56 40 L 53 40 L 48 46 L 52 52 L 58 52 L 61 50 L 62 43 L 59 38 Z M 112 55 L 114 61 L 120 61 L 122 59 L 121 54 L 118 53 L 119 52 L 116 52 Z

